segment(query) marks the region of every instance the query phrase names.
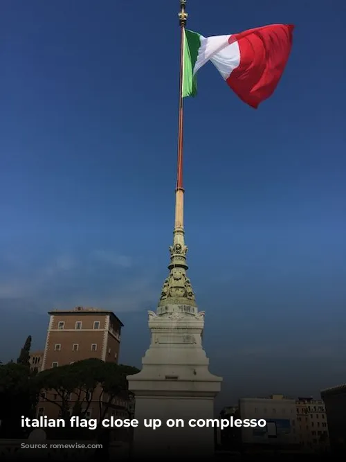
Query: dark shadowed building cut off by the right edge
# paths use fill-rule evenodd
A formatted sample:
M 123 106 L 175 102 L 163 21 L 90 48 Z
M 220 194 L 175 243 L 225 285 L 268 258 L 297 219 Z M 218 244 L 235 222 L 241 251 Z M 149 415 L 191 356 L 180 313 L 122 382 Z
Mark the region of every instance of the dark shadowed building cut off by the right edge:
M 346 452 L 346 384 L 321 391 L 332 452 Z

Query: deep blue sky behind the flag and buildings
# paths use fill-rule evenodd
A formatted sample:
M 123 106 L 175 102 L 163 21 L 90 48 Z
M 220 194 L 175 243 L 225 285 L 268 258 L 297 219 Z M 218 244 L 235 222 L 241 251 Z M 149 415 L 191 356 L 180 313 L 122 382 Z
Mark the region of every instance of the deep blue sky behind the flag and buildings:
M 140 365 L 172 241 L 179 1 L 1 9 L 0 359 L 29 334 L 43 346 L 48 310 L 95 305 L 124 321 L 122 361 Z M 316 394 L 346 381 L 346 4 L 189 0 L 188 12 L 203 35 L 295 24 L 257 111 L 212 64 L 200 71 L 185 103 L 185 228 L 225 402 Z

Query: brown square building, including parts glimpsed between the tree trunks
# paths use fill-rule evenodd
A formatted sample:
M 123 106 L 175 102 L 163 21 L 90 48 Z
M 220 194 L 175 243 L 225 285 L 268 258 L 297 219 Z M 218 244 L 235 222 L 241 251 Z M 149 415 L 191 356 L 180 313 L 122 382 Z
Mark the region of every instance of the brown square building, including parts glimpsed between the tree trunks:
M 53 367 L 73 364 L 83 359 L 101 359 L 118 363 L 122 322 L 116 314 L 107 310 L 77 307 L 73 310 L 54 310 L 50 315 L 46 348 L 42 359 L 42 371 Z M 35 361 L 35 359 L 33 359 Z M 79 395 L 79 398 L 78 398 Z M 75 402 L 84 402 L 86 418 L 100 418 L 100 389 L 93 396 L 82 396 L 76 391 L 69 395 L 69 410 L 72 413 Z M 102 396 L 102 402 L 108 397 Z M 60 415 L 61 396 L 54 390 L 43 393 L 37 405 L 37 416 L 57 418 Z M 129 417 L 133 414 L 133 403 L 116 397 L 111 401 L 107 417 Z M 101 413 L 103 413 L 101 407 Z

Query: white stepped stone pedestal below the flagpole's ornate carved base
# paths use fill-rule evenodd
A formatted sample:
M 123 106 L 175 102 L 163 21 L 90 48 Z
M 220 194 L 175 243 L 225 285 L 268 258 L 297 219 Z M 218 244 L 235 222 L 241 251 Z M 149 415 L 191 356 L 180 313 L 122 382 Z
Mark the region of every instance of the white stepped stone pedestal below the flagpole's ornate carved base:
M 210 458 L 215 448 L 213 427 L 190 427 L 189 420 L 214 418 L 214 399 L 221 377 L 208 371 L 202 347 L 204 313 L 189 305 L 165 305 L 149 312 L 152 341 L 140 373 L 130 375 L 136 398 L 134 457 L 196 456 Z M 144 419 L 160 419 L 155 430 Z M 168 419 L 183 419 L 184 427 L 167 427 Z M 193 422 L 192 424 L 196 424 Z

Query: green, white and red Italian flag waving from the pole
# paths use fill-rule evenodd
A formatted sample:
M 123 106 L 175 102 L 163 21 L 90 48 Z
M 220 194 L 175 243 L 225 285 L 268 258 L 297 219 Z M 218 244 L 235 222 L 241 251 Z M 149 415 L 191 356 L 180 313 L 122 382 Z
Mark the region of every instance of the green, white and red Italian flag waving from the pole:
M 292 25 L 272 24 L 233 35 L 203 37 L 185 30 L 183 97 L 196 96 L 196 74 L 211 61 L 244 103 L 257 109 L 277 87 L 289 59 Z

